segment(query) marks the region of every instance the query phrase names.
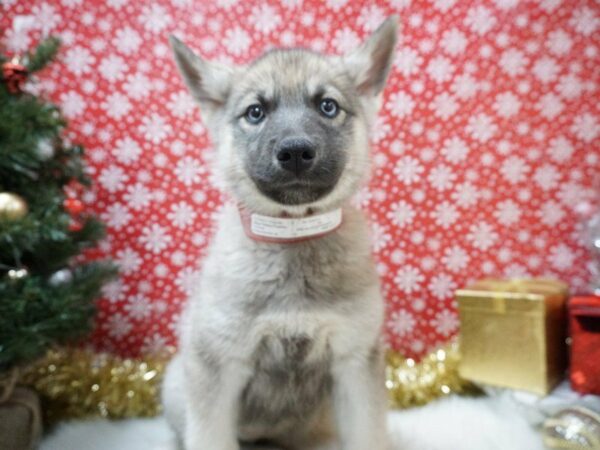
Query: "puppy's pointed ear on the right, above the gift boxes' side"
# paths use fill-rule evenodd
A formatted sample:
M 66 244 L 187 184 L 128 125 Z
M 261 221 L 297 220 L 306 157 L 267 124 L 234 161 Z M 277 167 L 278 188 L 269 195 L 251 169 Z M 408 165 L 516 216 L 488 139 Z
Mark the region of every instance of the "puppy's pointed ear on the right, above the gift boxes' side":
M 358 91 L 376 96 L 383 90 L 394 58 L 398 17 L 390 16 L 360 47 L 344 57 Z

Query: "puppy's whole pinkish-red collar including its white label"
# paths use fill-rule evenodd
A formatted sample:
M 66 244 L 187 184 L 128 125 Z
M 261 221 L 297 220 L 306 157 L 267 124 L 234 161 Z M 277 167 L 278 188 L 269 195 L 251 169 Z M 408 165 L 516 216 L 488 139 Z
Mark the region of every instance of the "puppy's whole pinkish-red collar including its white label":
M 332 233 L 342 224 L 341 208 L 305 217 L 263 216 L 242 207 L 239 211 L 246 235 L 260 242 L 293 244 L 308 241 Z

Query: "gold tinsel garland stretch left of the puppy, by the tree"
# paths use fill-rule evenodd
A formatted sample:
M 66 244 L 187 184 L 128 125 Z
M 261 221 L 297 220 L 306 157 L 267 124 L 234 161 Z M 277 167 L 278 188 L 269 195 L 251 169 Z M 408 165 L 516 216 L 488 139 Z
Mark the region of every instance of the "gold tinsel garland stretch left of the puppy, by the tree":
M 51 350 L 26 368 L 21 384 L 41 397 L 46 421 L 120 419 L 160 413 L 160 383 L 171 352 L 142 359 L 85 349 Z

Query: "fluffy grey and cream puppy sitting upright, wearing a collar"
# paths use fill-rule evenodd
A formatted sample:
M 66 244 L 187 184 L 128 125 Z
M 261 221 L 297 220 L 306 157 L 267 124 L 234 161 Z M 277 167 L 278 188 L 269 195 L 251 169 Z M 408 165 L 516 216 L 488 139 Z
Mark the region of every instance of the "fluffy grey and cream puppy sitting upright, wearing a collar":
M 356 51 L 270 51 L 227 67 L 174 37 L 216 147 L 225 206 L 166 373 L 186 450 L 387 450 L 383 301 L 350 206 L 396 43 L 391 17 Z

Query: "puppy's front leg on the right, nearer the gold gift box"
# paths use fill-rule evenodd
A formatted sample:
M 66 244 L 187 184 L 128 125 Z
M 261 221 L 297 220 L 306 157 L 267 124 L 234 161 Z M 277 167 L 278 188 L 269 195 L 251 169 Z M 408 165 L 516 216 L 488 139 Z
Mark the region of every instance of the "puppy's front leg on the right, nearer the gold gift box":
M 334 408 L 342 450 L 389 450 L 384 380 L 379 357 L 334 364 Z

